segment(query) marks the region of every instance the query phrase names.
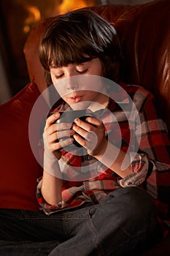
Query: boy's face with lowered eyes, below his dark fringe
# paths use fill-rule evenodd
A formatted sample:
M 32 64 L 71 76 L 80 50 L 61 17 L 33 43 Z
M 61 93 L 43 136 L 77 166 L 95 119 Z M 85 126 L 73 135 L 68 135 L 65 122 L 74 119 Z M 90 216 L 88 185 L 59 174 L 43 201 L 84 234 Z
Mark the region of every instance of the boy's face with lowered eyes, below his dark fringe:
M 107 105 L 108 96 L 105 95 L 106 90 L 101 81 L 102 74 L 103 69 L 98 58 L 82 64 L 50 68 L 58 94 L 69 106 L 78 108 L 88 108 L 93 102 Z

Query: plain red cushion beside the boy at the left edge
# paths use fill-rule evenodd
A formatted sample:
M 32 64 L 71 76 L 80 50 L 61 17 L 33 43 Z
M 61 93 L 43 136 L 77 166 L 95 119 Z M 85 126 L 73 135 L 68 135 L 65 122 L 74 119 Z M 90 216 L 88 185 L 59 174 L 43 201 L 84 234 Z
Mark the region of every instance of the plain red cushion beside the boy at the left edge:
M 36 178 L 42 167 L 36 162 L 28 139 L 31 109 L 39 97 L 34 83 L 0 106 L 0 207 L 37 210 Z M 35 129 L 39 141 L 39 127 Z

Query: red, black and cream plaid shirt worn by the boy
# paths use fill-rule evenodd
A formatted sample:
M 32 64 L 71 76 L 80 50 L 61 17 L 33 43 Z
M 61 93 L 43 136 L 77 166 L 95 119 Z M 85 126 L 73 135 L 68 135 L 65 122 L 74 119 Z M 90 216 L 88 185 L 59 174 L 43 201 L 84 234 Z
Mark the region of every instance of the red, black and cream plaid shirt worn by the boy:
M 62 201 L 57 206 L 47 204 L 41 194 L 41 179 L 37 187 L 36 197 L 46 214 L 80 206 L 87 201 L 99 203 L 109 192 L 120 187 L 140 186 L 155 200 L 158 218 L 170 224 L 170 143 L 166 125 L 158 117 L 155 99 L 149 91 L 141 86 L 127 86 L 124 83 L 122 86 L 127 94 L 120 90 L 114 98 L 110 97 L 106 110 L 96 111 L 96 116 L 104 121 L 110 142 L 132 156 L 137 151 L 131 162 L 133 173 L 122 179 L 87 154 L 75 156 L 72 152 L 63 151 L 59 160 L 65 180 Z M 129 99 L 134 102 L 138 115 L 132 109 Z M 60 106 L 61 109 L 64 110 L 64 105 Z M 109 113 L 113 114 L 115 121 Z M 136 120 L 137 116 L 140 122 Z M 88 166 L 88 173 L 95 171 L 93 163 L 98 171 L 97 176 L 90 178 L 81 173 L 82 166 Z M 64 178 L 68 170 L 72 173 L 72 181 Z M 80 173 L 85 175 L 84 181 L 77 181 Z

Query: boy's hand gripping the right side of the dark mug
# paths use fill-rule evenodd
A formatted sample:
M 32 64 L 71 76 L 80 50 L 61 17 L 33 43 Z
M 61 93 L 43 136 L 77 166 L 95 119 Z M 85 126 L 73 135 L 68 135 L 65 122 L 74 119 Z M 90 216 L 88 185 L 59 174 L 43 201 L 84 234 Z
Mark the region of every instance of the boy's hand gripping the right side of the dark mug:
M 72 127 L 76 132 L 73 136 L 74 140 L 86 148 L 91 156 L 102 156 L 107 148 L 105 127 L 102 121 L 95 117 L 87 117 L 85 121 L 77 118 L 74 120 L 74 123 Z

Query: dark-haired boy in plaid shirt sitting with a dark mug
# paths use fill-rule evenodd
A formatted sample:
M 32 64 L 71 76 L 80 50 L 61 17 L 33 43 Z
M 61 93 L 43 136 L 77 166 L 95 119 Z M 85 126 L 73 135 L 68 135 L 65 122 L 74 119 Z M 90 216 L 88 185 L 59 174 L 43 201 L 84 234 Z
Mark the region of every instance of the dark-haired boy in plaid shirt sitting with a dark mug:
M 39 59 L 62 99 L 43 134 L 36 196 L 44 211 L 27 211 L 19 220 L 11 211 L 1 233 L 16 241 L 51 241 L 50 256 L 139 255 L 163 236 L 152 197 L 169 203 L 169 186 L 155 183 L 158 177 L 163 184 L 170 166 L 154 97 L 123 83 L 116 31 L 88 10 L 53 20 Z M 62 121 L 72 110 L 92 115 Z

